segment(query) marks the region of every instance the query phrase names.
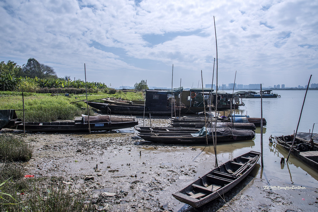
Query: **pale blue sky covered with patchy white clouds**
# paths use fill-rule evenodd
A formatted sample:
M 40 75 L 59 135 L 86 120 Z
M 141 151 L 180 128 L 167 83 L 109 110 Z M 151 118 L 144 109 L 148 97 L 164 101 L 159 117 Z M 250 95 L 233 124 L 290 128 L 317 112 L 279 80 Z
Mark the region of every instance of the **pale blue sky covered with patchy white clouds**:
M 318 1 L 0 0 L 0 61 L 111 87 L 318 83 Z M 216 63 L 215 63 L 216 72 Z M 214 77 L 214 84 L 215 77 Z M 199 86 L 200 87 L 200 86 Z

